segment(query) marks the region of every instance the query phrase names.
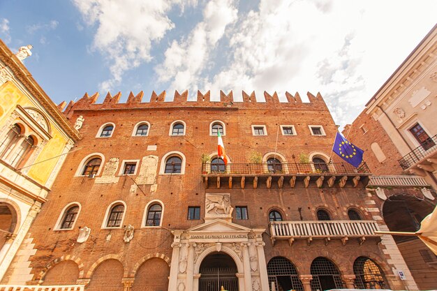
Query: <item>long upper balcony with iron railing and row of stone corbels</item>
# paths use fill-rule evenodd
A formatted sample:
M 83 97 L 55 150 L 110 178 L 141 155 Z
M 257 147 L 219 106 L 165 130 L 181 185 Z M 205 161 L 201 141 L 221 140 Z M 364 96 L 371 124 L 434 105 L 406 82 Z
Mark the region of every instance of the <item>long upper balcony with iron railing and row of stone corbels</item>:
M 338 183 L 341 188 L 346 184 L 357 187 L 361 181 L 363 186 L 369 183 L 371 172 L 366 163 L 354 167 L 348 163 L 228 163 L 219 165 L 202 164 L 202 177 L 205 186 L 216 185 L 221 188 L 227 185 L 232 188 L 235 184 L 244 189 L 251 185 L 258 188 L 294 188 L 296 183 L 304 187 L 315 184 L 318 188 L 331 188 Z

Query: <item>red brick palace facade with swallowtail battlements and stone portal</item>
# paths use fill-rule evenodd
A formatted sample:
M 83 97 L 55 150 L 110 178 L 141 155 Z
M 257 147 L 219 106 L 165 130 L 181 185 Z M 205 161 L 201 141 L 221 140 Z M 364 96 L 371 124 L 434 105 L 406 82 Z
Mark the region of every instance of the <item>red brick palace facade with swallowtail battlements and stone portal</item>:
M 84 119 L 83 138 L 31 226 L 34 255 L 20 264 L 33 280 L 22 283 L 417 290 L 392 237 L 375 234 L 388 228 L 366 165 L 329 163 L 337 127 L 322 96 L 242 95 L 70 103 L 64 113 Z

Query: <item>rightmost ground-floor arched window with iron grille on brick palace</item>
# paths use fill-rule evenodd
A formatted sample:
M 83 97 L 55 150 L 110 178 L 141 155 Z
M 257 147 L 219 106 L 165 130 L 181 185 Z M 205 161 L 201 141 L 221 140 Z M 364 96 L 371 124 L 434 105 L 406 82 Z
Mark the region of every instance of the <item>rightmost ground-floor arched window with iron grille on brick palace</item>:
M 357 258 L 353 263 L 353 273 L 357 289 L 387 289 L 383 271 L 369 258 Z

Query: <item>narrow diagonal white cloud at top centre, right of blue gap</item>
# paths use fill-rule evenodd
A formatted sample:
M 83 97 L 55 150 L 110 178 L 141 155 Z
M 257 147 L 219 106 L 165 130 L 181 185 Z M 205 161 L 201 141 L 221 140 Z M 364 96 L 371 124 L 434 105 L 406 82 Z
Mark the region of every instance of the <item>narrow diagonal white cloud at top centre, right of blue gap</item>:
M 226 27 L 237 20 L 233 0 L 212 0 L 203 10 L 203 20 L 187 38 L 173 40 L 165 51 L 163 64 L 156 66 L 159 82 L 171 80 L 169 91 L 193 89 L 210 61 L 210 53 L 223 37 Z

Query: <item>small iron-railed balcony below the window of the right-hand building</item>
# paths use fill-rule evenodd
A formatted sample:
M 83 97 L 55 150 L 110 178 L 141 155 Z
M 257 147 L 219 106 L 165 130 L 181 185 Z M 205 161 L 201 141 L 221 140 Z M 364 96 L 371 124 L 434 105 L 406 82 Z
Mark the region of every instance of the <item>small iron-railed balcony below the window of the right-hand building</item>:
M 417 164 L 420 164 L 418 167 L 424 170 L 429 167 L 434 161 L 427 161 L 428 159 L 437 157 L 437 135 L 433 137 L 429 137 L 427 140 L 422 142 L 419 147 L 413 149 L 408 154 L 403 156 L 399 160 L 399 165 L 401 165 L 403 170 L 408 170 L 410 167 L 413 167 Z M 433 167 L 429 167 L 429 170 L 433 170 Z

